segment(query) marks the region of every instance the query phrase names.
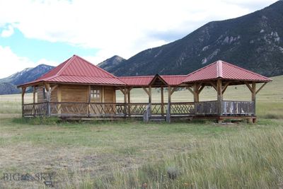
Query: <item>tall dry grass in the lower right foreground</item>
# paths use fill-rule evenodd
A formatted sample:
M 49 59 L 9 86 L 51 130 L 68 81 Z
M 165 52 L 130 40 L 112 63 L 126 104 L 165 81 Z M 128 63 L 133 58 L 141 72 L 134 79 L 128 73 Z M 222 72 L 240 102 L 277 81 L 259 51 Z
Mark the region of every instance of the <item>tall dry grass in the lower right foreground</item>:
M 132 171 L 113 166 L 98 178 L 73 170 L 60 188 L 283 188 L 283 129 L 249 130 L 196 140 L 191 151 L 164 154 Z M 63 174 L 64 175 L 64 174 Z

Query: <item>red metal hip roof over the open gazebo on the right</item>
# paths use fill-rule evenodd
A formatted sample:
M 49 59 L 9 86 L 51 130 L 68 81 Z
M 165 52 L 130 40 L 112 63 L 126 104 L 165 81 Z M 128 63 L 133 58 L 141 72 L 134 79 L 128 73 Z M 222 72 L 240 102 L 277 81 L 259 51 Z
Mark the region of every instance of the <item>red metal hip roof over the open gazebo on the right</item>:
M 256 74 L 253 71 L 248 71 L 241 67 L 224 61 L 216 61 L 197 71 L 188 74 L 183 83 L 193 81 L 204 81 L 209 79 L 231 79 L 242 81 L 272 81 L 272 79 Z

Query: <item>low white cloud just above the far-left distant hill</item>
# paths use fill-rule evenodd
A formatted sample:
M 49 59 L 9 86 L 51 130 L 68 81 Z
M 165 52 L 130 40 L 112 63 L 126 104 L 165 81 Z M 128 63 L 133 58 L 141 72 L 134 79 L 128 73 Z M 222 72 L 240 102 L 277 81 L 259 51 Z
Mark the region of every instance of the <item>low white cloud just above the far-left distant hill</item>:
M 31 61 L 28 57 L 20 57 L 16 55 L 10 47 L 2 47 L 0 45 L 1 71 L 0 79 L 17 71 L 21 71 L 27 67 L 36 67 L 38 64 L 57 65 L 57 62 L 40 59 L 37 62 Z

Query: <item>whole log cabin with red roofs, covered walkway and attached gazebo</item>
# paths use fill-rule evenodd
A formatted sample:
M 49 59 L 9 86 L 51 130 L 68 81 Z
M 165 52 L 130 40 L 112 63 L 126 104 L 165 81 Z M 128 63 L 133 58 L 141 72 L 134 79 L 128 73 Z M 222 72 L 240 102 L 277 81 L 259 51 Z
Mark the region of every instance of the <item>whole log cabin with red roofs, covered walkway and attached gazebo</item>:
M 77 55 L 67 59 L 35 81 L 21 84 L 23 117 L 58 116 L 59 118 L 171 118 L 246 119 L 255 122 L 255 96 L 272 81 L 265 76 L 216 61 L 187 75 L 114 76 Z M 251 101 L 225 101 L 228 86 L 246 86 Z M 260 85 L 257 88 L 257 85 Z M 200 101 L 205 86 L 211 86 L 217 101 Z M 25 103 L 26 88 L 33 88 L 33 103 Z M 148 103 L 132 103 L 132 88 L 143 88 Z M 161 103 L 151 102 L 151 88 L 161 89 Z M 164 101 L 164 88 L 168 99 Z M 171 102 L 178 88 L 192 93 L 194 101 Z M 124 102 L 116 102 L 116 91 Z M 37 96 L 37 98 L 35 98 Z M 37 101 L 35 100 L 37 99 Z

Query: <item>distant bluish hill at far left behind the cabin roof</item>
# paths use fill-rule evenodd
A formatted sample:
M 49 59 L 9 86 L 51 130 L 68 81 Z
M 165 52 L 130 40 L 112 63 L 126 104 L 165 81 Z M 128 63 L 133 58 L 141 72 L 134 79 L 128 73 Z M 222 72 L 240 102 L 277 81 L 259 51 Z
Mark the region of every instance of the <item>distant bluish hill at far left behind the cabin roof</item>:
M 23 71 L 18 71 L 16 74 L 0 79 L 0 95 L 21 92 L 16 86 L 35 80 L 52 68 L 54 67 L 40 64 L 37 67 L 26 68 Z

